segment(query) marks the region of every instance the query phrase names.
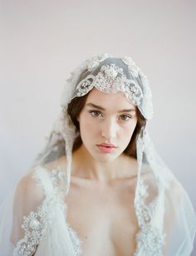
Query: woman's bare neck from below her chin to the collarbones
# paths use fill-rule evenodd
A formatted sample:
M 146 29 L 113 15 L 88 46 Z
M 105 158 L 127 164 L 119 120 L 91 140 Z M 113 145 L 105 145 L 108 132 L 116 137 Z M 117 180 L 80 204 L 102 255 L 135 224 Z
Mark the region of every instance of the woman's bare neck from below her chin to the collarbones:
M 96 161 L 85 146 L 81 145 L 73 153 L 72 175 L 83 179 L 97 180 L 104 184 L 110 180 L 125 179 L 136 175 L 136 162 L 135 159 L 124 154 L 110 162 Z

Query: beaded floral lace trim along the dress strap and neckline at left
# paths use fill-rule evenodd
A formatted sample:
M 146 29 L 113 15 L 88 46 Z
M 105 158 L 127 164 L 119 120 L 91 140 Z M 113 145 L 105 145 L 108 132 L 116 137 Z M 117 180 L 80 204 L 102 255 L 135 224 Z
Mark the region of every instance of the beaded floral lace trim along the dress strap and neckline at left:
M 37 207 L 37 211 L 30 212 L 23 217 L 22 229 L 24 230 L 23 239 L 17 242 L 13 255 L 29 256 L 36 252 L 37 246 L 42 239 L 47 239 L 47 235 L 52 232 L 51 227 L 54 221 L 52 214 L 56 207 L 60 207 L 65 212 L 66 204 L 64 204 L 59 196 L 57 186 L 62 178 L 61 170 L 51 170 L 51 183 L 53 185 L 53 193 L 49 194 L 43 200 L 42 205 Z M 42 185 L 41 180 L 37 180 L 37 185 Z M 65 220 L 66 221 L 66 220 Z M 76 232 L 67 224 L 70 239 L 73 244 L 76 256 L 81 255 L 81 240 L 78 239 Z

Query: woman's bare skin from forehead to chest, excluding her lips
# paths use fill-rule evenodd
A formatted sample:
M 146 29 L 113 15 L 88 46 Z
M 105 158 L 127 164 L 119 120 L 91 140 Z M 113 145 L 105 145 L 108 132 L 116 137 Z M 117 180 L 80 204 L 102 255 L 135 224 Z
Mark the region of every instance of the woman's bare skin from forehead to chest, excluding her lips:
M 78 116 L 83 144 L 73 154 L 66 220 L 82 241 L 81 256 L 135 252 L 137 161 L 123 154 L 135 130 L 135 114 L 122 92 L 93 89 Z M 115 149 L 105 152 L 101 143 Z

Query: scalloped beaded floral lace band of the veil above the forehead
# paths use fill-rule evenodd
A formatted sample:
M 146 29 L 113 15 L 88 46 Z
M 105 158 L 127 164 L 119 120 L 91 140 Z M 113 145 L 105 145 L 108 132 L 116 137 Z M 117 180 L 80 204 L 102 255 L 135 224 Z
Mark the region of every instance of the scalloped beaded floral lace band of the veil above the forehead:
M 143 98 L 140 86 L 134 80 L 127 79 L 123 69 L 115 64 L 101 66 L 100 72 L 96 76 L 88 75 L 81 80 L 76 87 L 76 96 L 86 95 L 94 86 L 106 93 L 123 91 L 136 106 L 140 105 Z

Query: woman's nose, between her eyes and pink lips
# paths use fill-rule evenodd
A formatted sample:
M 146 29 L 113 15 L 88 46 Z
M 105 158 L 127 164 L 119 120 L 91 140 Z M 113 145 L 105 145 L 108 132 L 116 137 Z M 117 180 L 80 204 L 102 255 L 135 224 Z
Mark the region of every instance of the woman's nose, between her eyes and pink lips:
M 118 125 L 115 120 L 108 119 L 103 121 L 101 126 L 101 136 L 110 141 L 115 138 L 118 132 Z

